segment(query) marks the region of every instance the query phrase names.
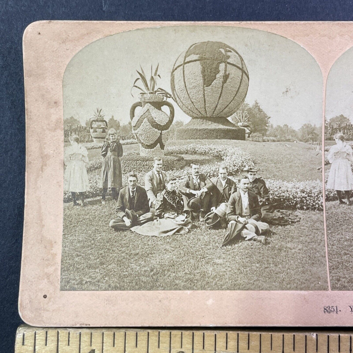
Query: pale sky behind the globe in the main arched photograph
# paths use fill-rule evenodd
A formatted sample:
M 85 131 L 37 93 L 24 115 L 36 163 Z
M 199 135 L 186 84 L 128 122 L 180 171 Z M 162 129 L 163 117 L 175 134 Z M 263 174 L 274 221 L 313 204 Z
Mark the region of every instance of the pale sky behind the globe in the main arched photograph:
M 92 42 L 69 62 L 63 78 L 64 118 L 84 125 L 97 107 L 126 124 L 138 101 L 130 90 L 140 65 L 147 73 L 159 63 L 159 86 L 171 92 L 170 73 L 191 44 L 220 41 L 243 57 L 249 72 L 245 101 L 257 100 L 273 125 L 298 129 L 322 124 L 322 74 L 315 59 L 299 44 L 269 32 L 222 26 L 175 26 L 127 31 Z M 174 120 L 190 121 L 175 102 Z

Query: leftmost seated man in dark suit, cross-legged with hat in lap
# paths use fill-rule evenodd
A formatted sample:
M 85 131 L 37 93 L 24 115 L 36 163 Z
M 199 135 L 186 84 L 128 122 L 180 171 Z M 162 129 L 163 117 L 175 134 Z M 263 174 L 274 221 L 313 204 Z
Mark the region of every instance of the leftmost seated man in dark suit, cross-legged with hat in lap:
M 109 227 L 116 231 L 130 229 L 153 220 L 147 193 L 143 187 L 137 185 L 137 174 L 128 173 L 127 182 L 128 186 L 123 187 L 119 192 L 115 208 L 116 217 L 109 223 Z

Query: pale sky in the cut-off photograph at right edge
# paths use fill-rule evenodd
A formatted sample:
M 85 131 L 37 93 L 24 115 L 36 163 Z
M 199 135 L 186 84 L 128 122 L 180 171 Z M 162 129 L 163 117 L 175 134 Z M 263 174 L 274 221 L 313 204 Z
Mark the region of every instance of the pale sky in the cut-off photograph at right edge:
M 353 48 L 332 65 L 326 84 L 325 116 L 327 120 L 343 114 L 353 124 Z

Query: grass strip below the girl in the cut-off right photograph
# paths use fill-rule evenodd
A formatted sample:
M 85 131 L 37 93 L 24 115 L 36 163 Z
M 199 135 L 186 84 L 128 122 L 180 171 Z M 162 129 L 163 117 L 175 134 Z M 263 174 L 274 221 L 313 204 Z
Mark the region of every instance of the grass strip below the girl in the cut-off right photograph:
M 331 289 L 353 290 L 353 207 L 326 202 L 326 231 Z

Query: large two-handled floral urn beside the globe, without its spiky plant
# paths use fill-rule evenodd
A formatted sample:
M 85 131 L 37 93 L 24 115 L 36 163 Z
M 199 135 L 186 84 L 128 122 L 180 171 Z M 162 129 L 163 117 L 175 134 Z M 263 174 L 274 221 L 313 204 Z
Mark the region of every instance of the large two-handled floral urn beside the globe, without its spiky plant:
M 132 133 L 140 147 L 141 156 L 164 156 L 164 147 L 169 137 L 169 127 L 174 119 L 174 107 L 159 94 L 139 95 L 139 102 L 132 104 L 130 119 Z M 169 108 L 169 115 L 162 110 Z M 141 107 L 139 111 L 135 111 Z

